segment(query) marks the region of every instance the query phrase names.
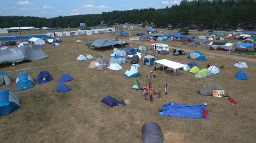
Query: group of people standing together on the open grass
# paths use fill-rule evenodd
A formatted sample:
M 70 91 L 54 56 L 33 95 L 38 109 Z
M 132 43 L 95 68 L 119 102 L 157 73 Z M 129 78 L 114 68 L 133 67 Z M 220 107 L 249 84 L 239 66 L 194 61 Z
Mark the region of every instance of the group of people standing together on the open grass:
M 153 102 L 153 95 L 157 95 L 157 99 L 161 100 L 162 99 L 161 98 L 161 96 L 162 96 L 162 88 L 161 88 L 160 85 L 158 87 L 159 87 L 158 90 L 153 90 L 152 89 L 152 82 L 151 81 L 148 83 L 147 86 L 144 86 L 142 88 L 143 101 L 146 102 L 147 96 L 149 96 L 149 102 Z M 164 92 L 165 92 L 166 95 L 168 93 L 168 89 L 169 89 L 169 86 L 168 86 L 168 83 L 166 83 L 165 89 L 164 89 Z

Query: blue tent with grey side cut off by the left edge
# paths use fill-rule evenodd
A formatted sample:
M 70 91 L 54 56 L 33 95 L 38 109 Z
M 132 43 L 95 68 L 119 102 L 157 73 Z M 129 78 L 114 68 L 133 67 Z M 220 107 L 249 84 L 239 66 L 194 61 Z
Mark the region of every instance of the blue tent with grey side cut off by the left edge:
M 12 91 L 0 89 L 0 115 L 8 115 L 19 107 L 19 98 Z

